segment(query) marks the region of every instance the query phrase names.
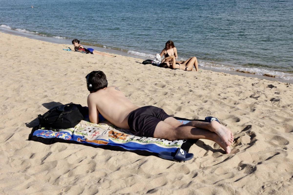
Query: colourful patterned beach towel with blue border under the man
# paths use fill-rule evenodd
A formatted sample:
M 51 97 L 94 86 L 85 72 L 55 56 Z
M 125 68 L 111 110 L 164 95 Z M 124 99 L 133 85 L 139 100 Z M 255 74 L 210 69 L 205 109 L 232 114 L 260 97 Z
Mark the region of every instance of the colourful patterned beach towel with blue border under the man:
M 182 124 L 188 119 L 177 118 Z M 44 144 L 66 142 L 101 147 L 117 151 L 132 151 L 140 155 L 156 155 L 160 152 L 175 152 L 178 148 L 189 151 L 197 140 L 175 140 L 152 137 L 134 136 L 129 130 L 115 127 L 108 121 L 99 124 L 81 120 L 74 128 L 61 130 L 46 130 L 36 126 L 33 128 L 29 140 Z

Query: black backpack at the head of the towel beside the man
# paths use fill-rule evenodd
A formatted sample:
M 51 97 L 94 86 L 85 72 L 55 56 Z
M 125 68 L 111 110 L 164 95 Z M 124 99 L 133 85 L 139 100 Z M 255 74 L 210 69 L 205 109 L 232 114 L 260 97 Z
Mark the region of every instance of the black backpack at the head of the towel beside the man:
M 84 119 L 87 111 L 80 104 L 67 103 L 55 106 L 43 115 L 38 115 L 39 128 L 44 127 L 49 130 L 68 129 L 77 125 Z

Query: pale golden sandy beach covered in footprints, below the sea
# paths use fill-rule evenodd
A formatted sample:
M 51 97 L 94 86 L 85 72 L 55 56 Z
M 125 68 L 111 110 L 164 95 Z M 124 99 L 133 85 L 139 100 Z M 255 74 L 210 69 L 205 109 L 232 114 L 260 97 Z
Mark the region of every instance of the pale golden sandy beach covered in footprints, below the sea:
M 203 70 L 143 65 L 143 59 L 64 51 L 0 33 L 0 194 L 291 194 L 292 84 Z M 217 117 L 234 133 L 231 153 L 209 140 L 177 163 L 79 144 L 28 141 L 38 114 L 56 103 L 87 106 L 85 76 L 102 70 L 138 106 Z

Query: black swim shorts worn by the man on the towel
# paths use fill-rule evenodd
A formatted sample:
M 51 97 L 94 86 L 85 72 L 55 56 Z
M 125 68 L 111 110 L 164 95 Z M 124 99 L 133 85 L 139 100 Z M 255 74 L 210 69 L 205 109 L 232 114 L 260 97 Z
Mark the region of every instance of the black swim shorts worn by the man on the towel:
M 134 135 L 154 137 L 154 131 L 160 121 L 170 117 L 161 108 L 144 106 L 132 111 L 128 118 L 128 126 Z

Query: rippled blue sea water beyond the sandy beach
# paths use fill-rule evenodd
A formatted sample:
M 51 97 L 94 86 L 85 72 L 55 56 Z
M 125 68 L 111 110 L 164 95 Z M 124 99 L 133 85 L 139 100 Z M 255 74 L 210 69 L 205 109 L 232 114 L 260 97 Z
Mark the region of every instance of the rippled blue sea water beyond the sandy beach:
M 292 0 L 0 0 L 1 29 L 150 59 L 172 40 L 202 67 L 293 80 Z

